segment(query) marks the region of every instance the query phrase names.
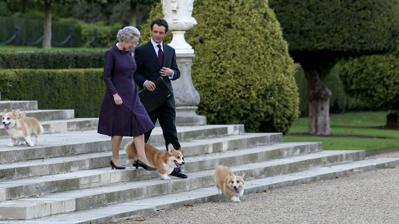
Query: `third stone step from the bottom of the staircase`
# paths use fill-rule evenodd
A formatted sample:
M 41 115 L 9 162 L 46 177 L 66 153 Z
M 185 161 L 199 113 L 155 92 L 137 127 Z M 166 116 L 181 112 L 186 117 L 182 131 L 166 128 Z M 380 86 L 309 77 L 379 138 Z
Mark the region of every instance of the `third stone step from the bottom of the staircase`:
M 257 146 L 245 150 L 233 150 L 224 153 L 209 154 L 207 157 L 196 156 L 186 158 L 184 171 L 213 169 L 217 164 L 240 165 L 246 162 L 257 162 L 320 152 L 321 143 L 282 143 L 271 146 Z M 111 155 L 111 154 L 110 154 Z M 253 159 L 255 158 L 255 159 Z M 60 173 L 34 178 L 0 182 L 0 201 L 22 197 L 40 196 L 43 194 L 98 187 L 111 183 L 158 178 L 156 172 L 144 169 L 112 170 L 109 167 L 91 170 L 79 170 L 71 173 Z

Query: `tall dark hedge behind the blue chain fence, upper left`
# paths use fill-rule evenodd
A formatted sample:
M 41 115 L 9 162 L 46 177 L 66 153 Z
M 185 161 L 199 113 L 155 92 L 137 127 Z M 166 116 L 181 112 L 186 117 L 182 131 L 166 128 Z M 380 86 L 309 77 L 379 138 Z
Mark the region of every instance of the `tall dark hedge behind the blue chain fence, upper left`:
M 44 20 L 43 19 L 29 19 L 29 18 L 14 18 L 14 17 L 0 17 L 0 42 L 8 41 L 15 33 L 15 25 L 18 25 L 18 34 L 28 42 L 37 41 L 44 34 Z M 69 35 L 69 28 L 73 27 L 73 37 L 75 39 L 81 39 L 82 29 L 75 23 L 61 23 L 57 21 L 51 21 L 51 41 L 55 43 L 61 43 Z M 10 44 L 14 44 L 12 41 Z M 37 46 L 41 46 L 41 42 Z M 25 45 L 21 39 L 18 39 L 18 45 Z M 56 46 L 51 44 L 53 47 L 69 47 L 69 42 L 62 46 Z M 36 46 L 36 45 L 35 45 Z M 73 47 L 80 47 L 79 44 L 73 43 Z

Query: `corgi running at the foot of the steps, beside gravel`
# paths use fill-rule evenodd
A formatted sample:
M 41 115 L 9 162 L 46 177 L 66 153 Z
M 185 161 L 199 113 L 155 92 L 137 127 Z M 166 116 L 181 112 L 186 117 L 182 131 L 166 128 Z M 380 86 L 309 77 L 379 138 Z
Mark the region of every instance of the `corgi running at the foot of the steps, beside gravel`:
M 220 194 L 221 191 L 231 201 L 240 202 L 239 197 L 243 196 L 245 188 L 244 176 L 245 173 L 242 176 L 234 175 L 233 171 L 227 166 L 217 166 L 212 176 L 217 194 Z

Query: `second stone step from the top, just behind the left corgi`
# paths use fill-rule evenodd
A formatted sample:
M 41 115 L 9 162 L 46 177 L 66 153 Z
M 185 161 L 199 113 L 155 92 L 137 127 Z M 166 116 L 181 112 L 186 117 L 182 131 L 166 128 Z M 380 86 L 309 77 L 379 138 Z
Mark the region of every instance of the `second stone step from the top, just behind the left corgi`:
M 26 117 L 35 117 L 38 121 L 54 121 L 75 118 L 74 110 L 25 110 Z M 10 111 L 8 111 L 10 112 Z M 3 115 L 1 111 L 0 116 Z

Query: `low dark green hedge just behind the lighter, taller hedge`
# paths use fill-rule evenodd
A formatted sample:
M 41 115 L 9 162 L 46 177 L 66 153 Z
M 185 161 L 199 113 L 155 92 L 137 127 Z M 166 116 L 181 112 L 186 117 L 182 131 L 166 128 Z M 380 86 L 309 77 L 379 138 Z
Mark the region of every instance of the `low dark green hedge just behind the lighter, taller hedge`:
M 0 52 L 0 68 L 103 68 L 106 51 Z

